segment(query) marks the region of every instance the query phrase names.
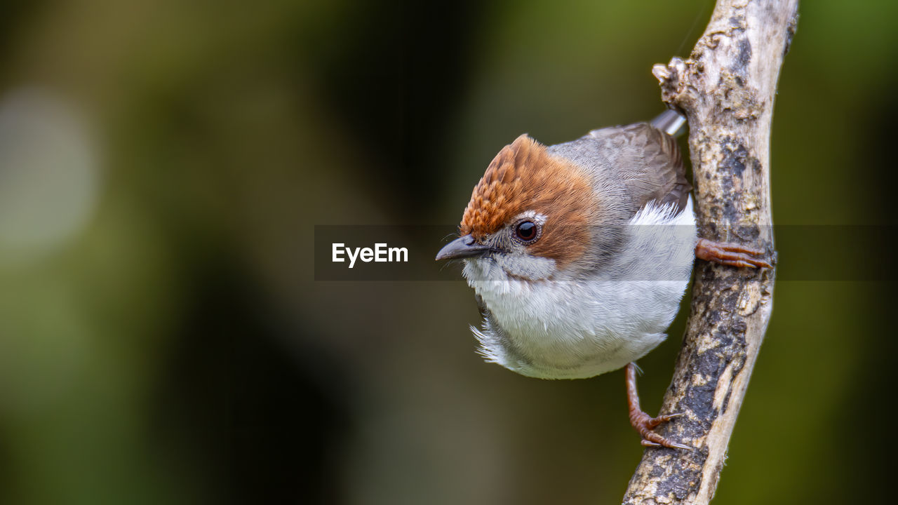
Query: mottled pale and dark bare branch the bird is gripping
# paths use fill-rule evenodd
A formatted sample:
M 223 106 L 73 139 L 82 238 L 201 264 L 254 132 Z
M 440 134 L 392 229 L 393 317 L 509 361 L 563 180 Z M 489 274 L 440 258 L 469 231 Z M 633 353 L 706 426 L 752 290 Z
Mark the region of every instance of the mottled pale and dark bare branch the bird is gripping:
M 689 119 L 700 236 L 773 251 L 770 122 L 797 0 L 718 0 L 691 58 L 656 65 L 662 97 Z M 774 270 L 697 263 L 689 323 L 659 432 L 692 451 L 647 448 L 623 502 L 706 504 L 773 307 Z

